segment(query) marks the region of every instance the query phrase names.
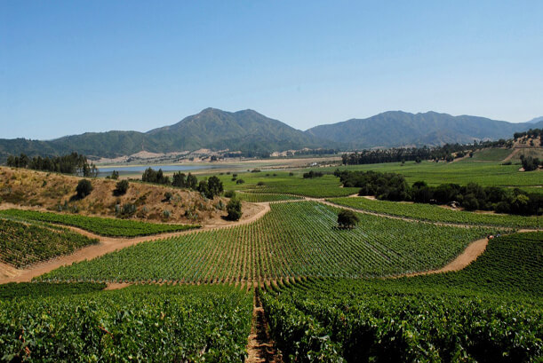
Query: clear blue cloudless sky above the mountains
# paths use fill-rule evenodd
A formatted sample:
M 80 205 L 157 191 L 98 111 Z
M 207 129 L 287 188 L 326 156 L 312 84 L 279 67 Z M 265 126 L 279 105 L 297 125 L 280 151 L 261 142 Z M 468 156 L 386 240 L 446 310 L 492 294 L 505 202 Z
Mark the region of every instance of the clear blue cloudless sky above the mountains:
M 0 138 L 205 107 L 306 130 L 387 110 L 543 115 L 543 1 L 0 0 Z

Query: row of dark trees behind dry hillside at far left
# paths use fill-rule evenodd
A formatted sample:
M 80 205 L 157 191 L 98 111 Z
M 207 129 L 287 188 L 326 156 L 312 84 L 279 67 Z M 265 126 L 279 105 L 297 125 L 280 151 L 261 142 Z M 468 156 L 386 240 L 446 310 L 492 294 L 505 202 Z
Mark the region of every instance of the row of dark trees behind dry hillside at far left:
M 7 166 L 14 168 L 76 174 L 92 178 L 98 176 L 96 165 L 89 163 L 85 155 L 77 153 L 52 157 L 34 156 L 33 158 L 29 158 L 27 154 L 9 155 L 6 163 Z

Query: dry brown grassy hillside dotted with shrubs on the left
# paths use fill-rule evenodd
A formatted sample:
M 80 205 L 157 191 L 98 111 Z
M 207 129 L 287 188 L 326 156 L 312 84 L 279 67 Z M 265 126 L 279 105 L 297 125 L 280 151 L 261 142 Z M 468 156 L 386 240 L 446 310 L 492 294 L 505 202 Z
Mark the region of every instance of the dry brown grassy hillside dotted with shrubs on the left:
M 76 185 L 81 178 L 0 167 L 0 202 L 53 211 L 76 212 L 102 217 L 132 217 L 142 220 L 206 224 L 225 216 L 218 208 L 228 200 L 207 200 L 200 193 L 162 185 L 131 182 L 128 192 L 115 196 L 116 180 L 90 179 L 92 193 L 76 201 Z M 170 201 L 164 200 L 172 193 Z M 131 211 L 132 209 L 132 211 Z

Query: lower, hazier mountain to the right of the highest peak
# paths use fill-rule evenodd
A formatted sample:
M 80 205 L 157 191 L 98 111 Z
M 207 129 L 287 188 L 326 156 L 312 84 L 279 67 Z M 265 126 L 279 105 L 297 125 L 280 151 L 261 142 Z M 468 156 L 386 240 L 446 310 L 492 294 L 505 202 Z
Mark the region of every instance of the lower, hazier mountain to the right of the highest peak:
M 537 125 L 537 124 L 536 124 Z M 366 119 L 351 119 L 306 131 L 316 138 L 346 143 L 349 148 L 438 146 L 474 140 L 511 138 L 533 123 L 511 123 L 469 115 L 388 111 Z

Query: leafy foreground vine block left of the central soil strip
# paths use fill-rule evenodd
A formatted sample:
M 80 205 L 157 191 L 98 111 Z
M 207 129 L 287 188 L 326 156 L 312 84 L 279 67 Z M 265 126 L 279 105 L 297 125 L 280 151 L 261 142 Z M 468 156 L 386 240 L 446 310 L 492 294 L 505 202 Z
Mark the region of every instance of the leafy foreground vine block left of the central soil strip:
M 0 300 L 1 359 L 242 361 L 251 319 L 252 294 L 228 286 Z

